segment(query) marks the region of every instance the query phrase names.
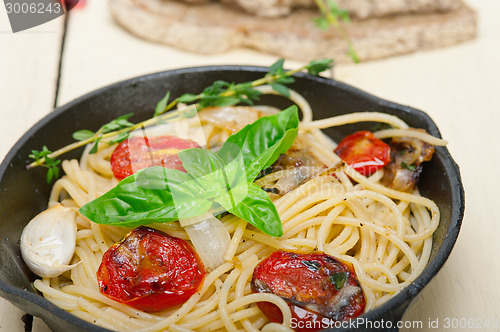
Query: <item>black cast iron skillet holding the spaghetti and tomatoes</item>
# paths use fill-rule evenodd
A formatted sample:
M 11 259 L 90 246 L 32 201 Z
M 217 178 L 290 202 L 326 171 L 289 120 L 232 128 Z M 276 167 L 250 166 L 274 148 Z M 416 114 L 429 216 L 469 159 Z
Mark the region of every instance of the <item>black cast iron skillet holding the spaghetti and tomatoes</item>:
M 248 66 L 197 67 L 167 71 L 134 78 L 89 93 L 56 109 L 35 124 L 10 150 L 0 165 L 0 295 L 22 310 L 41 317 L 54 331 L 108 331 L 85 322 L 45 300 L 34 288 L 33 275 L 19 251 L 19 238 L 24 226 L 47 206 L 50 186 L 44 169 L 27 171 L 28 155 L 43 145 L 57 149 L 71 143 L 71 135 L 80 129 L 97 130 L 119 115 L 133 112 L 132 121 L 150 117 L 156 102 L 166 91 L 172 98 L 182 93 L 200 92 L 214 80 L 245 82 L 262 77 L 266 68 Z M 314 118 L 351 112 L 377 111 L 396 115 L 410 126 L 425 128 L 440 136 L 434 122 L 423 112 L 388 102 L 346 84 L 311 77 L 296 76 L 293 89 L 311 103 Z M 281 97 L 266 96 L 263 103 L 288 106 Z M 362 123 L 326 130 L 334 140 L 374 123 Z M 82 150 L 65 158 L 78 158 Z M 423 273 L 408 287 L 384 305 L 358 318 L 362 323 L 390 320 L 397 322 L 422 288 L 436 275 L 448 258 L 457 239 L 464 213 L 464 190 L 458 166 L 443 147 L 436 149 L 432 161 L 425 165 L 419 185 L 422 194 L 436 201 L 441 209 L 441 222 L 434 234 L 430 261 Z M 395 324 L 394 324 L 395 325 Z

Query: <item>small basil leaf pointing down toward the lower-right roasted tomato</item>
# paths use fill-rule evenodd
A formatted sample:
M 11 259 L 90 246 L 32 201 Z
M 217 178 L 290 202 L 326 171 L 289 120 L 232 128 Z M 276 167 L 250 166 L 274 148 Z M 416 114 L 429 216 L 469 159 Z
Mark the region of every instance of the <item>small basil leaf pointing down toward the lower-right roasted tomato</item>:
M 228 211 L 254 225 L 264 233 L 279 237 L 283 235 L 281 220 L 276 206 L 260 187 L 248 183 L 248 195 Z M 216 202 L 223 205 L 220 200 Z M 224 205 L 223 205 L 224 206 Z

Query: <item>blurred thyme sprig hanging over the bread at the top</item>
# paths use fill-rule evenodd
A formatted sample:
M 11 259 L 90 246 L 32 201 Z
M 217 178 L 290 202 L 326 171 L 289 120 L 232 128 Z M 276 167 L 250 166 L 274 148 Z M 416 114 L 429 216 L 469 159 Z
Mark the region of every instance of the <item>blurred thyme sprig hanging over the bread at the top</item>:
M 347 10 L 342 10 L 338 7 L 338 5 L 333 0 L 314 0 L 316 5 L 318 6 L 321 16 L 314 19 L 314 22 L 318 27 L 323 30 L 328 29 L 330 26 L 333 26 L 335 30 L 340 34 L 342 39 L 347 43 L 348 47 L 348 55 L 352 58 L 352 61 L 355 63 L 359 63 L 359 57 L 354 49 L 354 45 L 352 44 L 351 38 L 344 30 L 342 25 L 340 25 L 340 21 L 350 22 L 349 13 Z

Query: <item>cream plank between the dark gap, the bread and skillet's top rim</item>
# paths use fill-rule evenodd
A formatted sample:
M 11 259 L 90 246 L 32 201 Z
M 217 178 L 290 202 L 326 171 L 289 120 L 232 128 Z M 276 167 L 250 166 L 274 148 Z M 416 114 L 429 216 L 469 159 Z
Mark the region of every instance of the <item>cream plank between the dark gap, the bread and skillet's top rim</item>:
M 269 66 L 276 57 L 248 49 L 201 56 L 141 40 L 113 21 L 108 1 L 88 0 L 68 26 L 60 104 L 105 85 L 168 69 L 207 65 Z M 287 61 L 289 68 L 299 65 Z

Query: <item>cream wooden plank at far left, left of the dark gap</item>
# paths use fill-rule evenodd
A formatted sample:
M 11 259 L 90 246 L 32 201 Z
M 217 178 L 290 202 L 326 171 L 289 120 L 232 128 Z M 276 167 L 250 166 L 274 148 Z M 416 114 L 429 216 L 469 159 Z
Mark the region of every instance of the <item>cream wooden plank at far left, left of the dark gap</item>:
M 0 159 L 25 131 L 53 109 L 64 22 L 60 17 L 13 34 L 4 8 L 1 4 Z M 24 331 L 23 315 L 23 311 L 0 298 L 0 331 Z

